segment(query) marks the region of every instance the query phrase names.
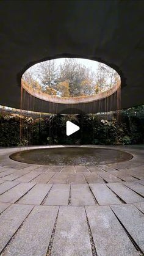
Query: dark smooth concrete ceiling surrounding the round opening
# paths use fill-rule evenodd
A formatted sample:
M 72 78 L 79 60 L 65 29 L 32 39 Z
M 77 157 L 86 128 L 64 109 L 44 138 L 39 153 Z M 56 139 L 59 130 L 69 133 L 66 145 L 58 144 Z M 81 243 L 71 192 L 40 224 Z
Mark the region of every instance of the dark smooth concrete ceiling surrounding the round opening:
M 138 0 L 1 1 L 0 104 L 20 108 L 23 72 L 56 57 L 110 65 L 121 76 L 121 108 L 144 104 L 143 10 Z

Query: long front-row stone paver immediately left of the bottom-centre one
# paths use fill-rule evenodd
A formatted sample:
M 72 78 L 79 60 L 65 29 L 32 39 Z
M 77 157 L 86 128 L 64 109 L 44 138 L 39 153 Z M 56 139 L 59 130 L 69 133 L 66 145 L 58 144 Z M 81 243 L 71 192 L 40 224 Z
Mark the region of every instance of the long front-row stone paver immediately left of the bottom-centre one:
M 37 206 L 5 249 L 5 255 L 43 256 L 48 251 L 58 207 Z

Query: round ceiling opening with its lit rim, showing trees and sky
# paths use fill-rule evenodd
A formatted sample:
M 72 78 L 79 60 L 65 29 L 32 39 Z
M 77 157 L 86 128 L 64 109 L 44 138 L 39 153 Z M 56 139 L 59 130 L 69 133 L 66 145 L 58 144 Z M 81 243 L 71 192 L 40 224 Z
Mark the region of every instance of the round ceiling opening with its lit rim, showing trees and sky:
M 84 103 L 108 97 L 121 84 L 117 71 L 95 60 L 59 58 L 27 69 L 21 84 L 28 93 L 54 103 Z

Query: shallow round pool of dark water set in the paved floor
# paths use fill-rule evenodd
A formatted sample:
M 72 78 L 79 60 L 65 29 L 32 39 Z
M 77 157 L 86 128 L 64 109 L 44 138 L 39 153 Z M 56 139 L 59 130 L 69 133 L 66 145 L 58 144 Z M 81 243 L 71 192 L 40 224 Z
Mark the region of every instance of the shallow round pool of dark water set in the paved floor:
M 93 166 L 128 161 L 132 155 L 119 150 L 92 147 L 59 147 L 24 150 L 10 158 L 28 164 Z

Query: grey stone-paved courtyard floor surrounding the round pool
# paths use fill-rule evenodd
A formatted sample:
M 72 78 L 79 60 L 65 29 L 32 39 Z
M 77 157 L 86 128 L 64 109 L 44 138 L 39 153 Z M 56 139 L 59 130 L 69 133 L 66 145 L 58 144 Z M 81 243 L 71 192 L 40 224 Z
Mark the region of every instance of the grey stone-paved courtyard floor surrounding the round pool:
M 144 255 L 144 146 L 103 148 L 133 158 L 40 166 L 0 148 L 0 255 Z

